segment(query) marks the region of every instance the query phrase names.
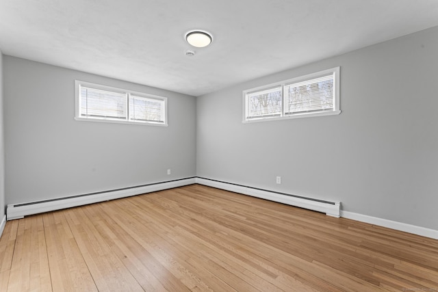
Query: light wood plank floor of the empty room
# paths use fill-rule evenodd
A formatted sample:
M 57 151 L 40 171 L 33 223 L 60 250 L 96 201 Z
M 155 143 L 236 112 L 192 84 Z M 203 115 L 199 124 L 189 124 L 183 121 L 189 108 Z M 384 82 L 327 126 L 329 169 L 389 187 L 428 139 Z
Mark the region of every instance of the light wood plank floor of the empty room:
M 190 185 L 7 222 L 0 291 L 438 291 L 438 241 Z

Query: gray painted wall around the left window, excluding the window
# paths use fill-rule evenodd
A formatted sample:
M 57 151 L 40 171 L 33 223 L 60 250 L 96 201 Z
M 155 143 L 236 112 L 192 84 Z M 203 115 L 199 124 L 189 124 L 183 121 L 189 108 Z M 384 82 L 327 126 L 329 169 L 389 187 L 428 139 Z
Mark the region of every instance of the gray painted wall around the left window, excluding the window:
M 196 174 L 193 96 L 10 56 L 3 66 L 6 204 Z M 168 127 L 74 120 L 75 79 L 167 97 Z

